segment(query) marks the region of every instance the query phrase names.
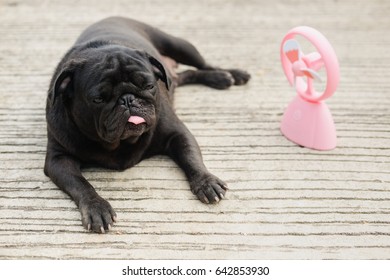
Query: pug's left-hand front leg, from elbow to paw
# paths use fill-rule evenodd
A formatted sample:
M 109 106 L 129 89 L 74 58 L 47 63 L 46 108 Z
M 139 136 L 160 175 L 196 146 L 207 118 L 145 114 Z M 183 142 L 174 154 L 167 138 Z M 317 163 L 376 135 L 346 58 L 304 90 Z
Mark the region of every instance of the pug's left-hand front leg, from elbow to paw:
M 111 228 L 116 220 L 114 210 L 82 176 L 76 159 L 48 151 L 45 174 L 76 202 L 87 230 L 104 233 Z

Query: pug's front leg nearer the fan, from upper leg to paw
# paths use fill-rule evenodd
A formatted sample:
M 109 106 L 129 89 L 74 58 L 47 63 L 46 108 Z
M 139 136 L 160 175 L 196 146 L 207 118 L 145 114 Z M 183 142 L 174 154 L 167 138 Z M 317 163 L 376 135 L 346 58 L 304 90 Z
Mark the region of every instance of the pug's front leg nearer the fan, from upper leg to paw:
M 194 136 L 177 119 L 165 151 L 186 174 L 191 191 L 203 203 L 217 203 L 224 198 L 227 185 L 211 174 L 203 163 L 202 154 Z

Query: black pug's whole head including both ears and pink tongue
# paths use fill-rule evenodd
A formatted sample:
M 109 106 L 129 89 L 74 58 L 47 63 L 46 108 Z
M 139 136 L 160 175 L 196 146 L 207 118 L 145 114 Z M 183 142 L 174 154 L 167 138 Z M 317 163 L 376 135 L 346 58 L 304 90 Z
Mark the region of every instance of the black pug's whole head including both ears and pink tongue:
M 158 96 L 169 88 L 163 65 L 122 46 L 87 48 L 66 61 L 52 83 L 49 104 L 61 102 L 88 138 L 135 142 L 153 128 Z M 62 106 L 62 105 L 60 105 Z

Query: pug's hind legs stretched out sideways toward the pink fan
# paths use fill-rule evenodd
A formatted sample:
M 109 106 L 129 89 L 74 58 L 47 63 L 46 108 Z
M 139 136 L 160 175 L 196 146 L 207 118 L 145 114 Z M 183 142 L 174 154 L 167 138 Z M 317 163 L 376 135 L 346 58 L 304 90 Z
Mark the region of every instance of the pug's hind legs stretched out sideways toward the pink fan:
M 178 74 L 177 85 L 204 84 L 217 89 L 232 85 L 244 85 L 250 75 L 240 69 L 221 69 L 208 64 L 199 51 L 188 41 L 171 36 L 158 29 L 149 30 L 153 44 L 159 52 L 178 63 L 193 66 L 199 70 L 188 70 Z

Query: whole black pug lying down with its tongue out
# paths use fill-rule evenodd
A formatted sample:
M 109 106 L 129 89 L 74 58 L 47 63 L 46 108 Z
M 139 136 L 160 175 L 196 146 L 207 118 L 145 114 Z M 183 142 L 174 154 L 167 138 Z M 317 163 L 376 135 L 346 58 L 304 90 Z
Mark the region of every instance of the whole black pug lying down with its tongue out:
M 175 63 L 193 66 L 175 74 Z M 226 89 L 248 82 L 242 70 L 205 62 L 189 42 L 127 18 L 88 27 L 52 78 L 46 105 L 45 174 L 77 204 L 88 230 L 111 229 L 116 214 L 81 174 L 84 165 L 123 170 L 157 154 L 183 169 L 204 203 L 224 198 L 226 184 L 202 161 L 196 140 L 176 116 L 173 91 L 185 84 Z

